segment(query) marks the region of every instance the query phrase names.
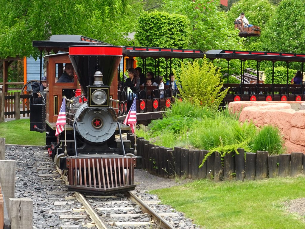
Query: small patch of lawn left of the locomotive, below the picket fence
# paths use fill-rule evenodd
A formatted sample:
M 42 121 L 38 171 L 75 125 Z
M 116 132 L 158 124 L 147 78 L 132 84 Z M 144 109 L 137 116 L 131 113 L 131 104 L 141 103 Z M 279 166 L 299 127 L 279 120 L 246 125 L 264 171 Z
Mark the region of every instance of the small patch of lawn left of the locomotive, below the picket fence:
M 0 137 L 6 144 L 45 146 L 45 133 L 30 131 L 30 119 L 1 122 Z

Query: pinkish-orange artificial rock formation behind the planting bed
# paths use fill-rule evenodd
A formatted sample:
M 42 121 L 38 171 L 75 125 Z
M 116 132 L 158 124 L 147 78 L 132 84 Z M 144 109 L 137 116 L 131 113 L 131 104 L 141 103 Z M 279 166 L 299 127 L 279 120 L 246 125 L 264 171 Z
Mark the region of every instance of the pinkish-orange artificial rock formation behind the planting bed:
M 283 134 L 287 152 L 305 153 L 305 110 L 299 109 L 302 101 L 237 101 L 229 103 L 232 113 L 239 114 L 239 121 L 253 120 L 261 127 L 274 125 Z

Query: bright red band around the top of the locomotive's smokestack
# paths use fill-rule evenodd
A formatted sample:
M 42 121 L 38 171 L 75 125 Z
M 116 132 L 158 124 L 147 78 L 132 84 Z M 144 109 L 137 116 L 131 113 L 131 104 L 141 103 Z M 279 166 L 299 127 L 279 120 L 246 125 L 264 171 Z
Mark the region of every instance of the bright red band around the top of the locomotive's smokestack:
M 122 56 L 122 47 L 113 46 L 76 46 L 69 47 L 69 55 L 109 55 Z

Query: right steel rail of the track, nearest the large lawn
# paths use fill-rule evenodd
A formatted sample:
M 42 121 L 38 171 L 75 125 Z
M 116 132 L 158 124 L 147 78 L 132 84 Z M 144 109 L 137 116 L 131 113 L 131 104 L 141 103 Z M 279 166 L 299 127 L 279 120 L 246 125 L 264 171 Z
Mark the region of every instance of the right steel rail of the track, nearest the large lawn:
M 163 217 L 161 217 L 158 213 L 156 213 L 151 207 L 145 204 L 141 199 L 139 199 L 135 194 L 131 191 L 124 192 L 126 196 L 131 199 L 136 204 L 140 205 L 141 210 L 144 213 L 147 213 L 152 216 L 152 218 L 156 221 L 156 224 L 159 225 L 160 228 L 163 229 L 175 229 L 170 223 L 168 223 Z

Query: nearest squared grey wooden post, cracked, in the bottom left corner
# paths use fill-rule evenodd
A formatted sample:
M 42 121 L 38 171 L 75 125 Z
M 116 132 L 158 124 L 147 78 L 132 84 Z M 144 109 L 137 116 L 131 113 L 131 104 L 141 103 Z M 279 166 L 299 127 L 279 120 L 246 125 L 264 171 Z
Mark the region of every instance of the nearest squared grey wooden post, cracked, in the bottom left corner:
M 9 198 L 11 229 L 33 228 L 33 201 L 30 198 Z

